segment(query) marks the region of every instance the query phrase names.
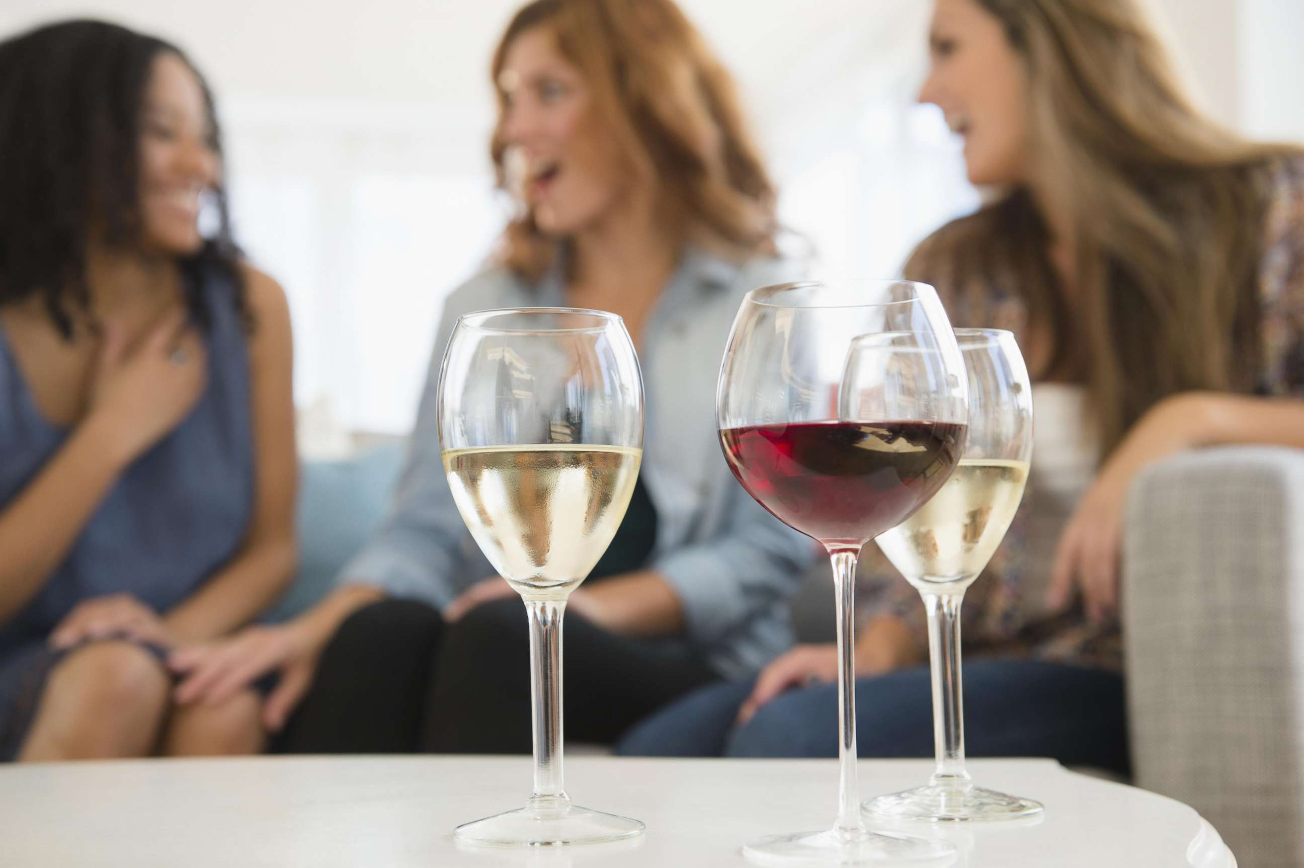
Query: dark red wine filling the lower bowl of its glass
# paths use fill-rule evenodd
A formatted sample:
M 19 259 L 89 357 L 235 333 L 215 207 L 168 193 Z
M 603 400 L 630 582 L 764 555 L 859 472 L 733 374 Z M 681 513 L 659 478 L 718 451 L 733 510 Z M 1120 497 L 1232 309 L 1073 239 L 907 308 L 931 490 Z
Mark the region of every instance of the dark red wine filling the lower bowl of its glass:
M 738 482 L 829 551 L 854 550 L 938 493 L 964 451 L 956 422 L 799 422 L 724 429 Z

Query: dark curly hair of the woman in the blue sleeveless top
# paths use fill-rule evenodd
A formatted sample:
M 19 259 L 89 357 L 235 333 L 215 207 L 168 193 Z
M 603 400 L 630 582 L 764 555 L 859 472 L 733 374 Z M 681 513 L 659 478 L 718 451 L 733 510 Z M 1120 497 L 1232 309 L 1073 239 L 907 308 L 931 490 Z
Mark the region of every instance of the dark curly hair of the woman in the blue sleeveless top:
M 39 296 L 59 334 L 90 313 L 86 245 L 140 242 L 140 125 L 155 57 L 171 52 L 203 90 L 222 158 L 213 93 L 185 53 L 103 21 L 63 21 L 0 42 L 0 305 Z M 226 275 L 248 322 L 224 189 L 216 232 L 179 259 L 192 317 L 207 323 L 201 275 Z

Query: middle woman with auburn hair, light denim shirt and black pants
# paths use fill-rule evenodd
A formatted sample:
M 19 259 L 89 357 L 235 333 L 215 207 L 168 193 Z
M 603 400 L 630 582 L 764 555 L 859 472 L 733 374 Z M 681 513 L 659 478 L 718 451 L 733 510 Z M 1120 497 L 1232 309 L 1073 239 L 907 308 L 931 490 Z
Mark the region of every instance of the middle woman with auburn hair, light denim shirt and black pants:
M 569 735 L 612 743 L 792 641 L 784 600 L 810 549 L 737 486 L 713 424 L 741 296 L 792 271 L 728 74 L 669 0 L 531 3 L 492 73 L 492 155 L 522 209 L 497 265 L 445 305 L 389 520 L 314 610 L 180 661 L 184 701 L 279 671 L 265 721 L 289 721 L 284 749 L 531 748 L 526 614 L 466 532 L 436 433 L 443 348 L 471 310 L 610 310 L 643 360 L 638 487 L 567 605 Z

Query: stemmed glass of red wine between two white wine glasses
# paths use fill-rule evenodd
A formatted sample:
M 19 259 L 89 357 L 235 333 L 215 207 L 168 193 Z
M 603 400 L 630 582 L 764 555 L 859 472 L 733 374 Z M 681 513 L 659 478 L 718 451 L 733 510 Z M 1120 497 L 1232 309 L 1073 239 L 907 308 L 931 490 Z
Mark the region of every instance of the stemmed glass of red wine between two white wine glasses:
M 849 368 L 853 341 L 880 332 L 898 334 L 901 352 Z M 748 292 L 720 366 L 716 413 L 743 489 L 828 550 L 837 606 L 837 822 L 762 838 L 743 854 L 777 865 L 948 863 L 949 843 L 865 826 L 855 766 L 857 559 L 936 494 L 965 448 L 965 362 L 936 292 L 901 280 Z

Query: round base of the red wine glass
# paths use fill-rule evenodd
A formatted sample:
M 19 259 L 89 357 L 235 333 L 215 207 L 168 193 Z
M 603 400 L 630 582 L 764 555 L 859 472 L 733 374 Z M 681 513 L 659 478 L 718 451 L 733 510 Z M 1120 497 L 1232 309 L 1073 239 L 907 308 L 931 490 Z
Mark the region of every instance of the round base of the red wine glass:
M 748 843 L 742 855 L 758 865 L 948 865 L 956 847 L 944 841 L 833 829 L 769 835 Z

